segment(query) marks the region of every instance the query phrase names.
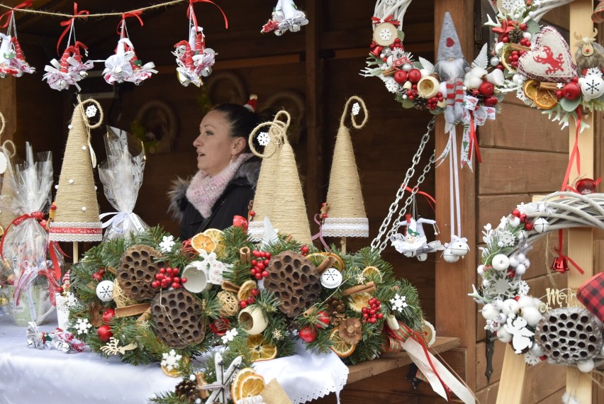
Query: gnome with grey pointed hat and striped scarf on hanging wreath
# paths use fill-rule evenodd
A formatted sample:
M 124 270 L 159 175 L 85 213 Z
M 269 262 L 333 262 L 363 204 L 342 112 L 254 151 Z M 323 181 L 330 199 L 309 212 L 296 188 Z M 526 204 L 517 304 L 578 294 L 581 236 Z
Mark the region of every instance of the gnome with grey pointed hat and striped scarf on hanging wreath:
M 464 113 L 464 76 L 469 68 L 464 59 L 462 46 L 459 43 L 457 31 L 451 15 L 447 11 L 442 20 L 442 30 L 438 41 L 438 55 L 435 71 L 441 82 L 445 82 L 447 91 L 447 108 L 444 110 L 444 120 L 447 126 L 455 125 L 462 120 Z M 445 130 L 448 132 L 449 130 Z

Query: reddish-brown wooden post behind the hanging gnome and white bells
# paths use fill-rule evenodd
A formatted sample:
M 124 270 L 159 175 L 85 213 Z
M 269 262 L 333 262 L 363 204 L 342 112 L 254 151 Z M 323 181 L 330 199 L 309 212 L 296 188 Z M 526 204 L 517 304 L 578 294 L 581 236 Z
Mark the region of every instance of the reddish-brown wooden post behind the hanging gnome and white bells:
M 442 18 L 449 11 L 459 35 L 466 60 L 474 60 L 474 0 L 436 0 L 434 5 L 435 55 L 438 50 Z M 435 125 L 435 147 L 437 155 L 442 152 L 449 138 L 444 133 L 444 117 L 438 116 Z M 461 137 L 459 137 L 461 140 Z M 451 158 L 451 157 L 449 157 Z M 479 168 L 478 168 L 479 169 Z M 436 220 L 442 234 L 449 234 L 449 164 L 441 164 L 435 170 Z M 476 282 L 476 172 L 467 167 L 459 170 L 459 189 L 463 204 L 463 236 L 468 239 L 470 252 L 456 264 L 447 264 L 437 255 L 436 262 L 436 330 L 438 335 L 459 337 L 463 350 L 461 363 L 455 371 L 471 390 L 476 389 L 476 303 L 468 298 L 471 285 Z M 462 235 L 459 235 L 460 237 Z M 455 310 L 452 310 L 455 308 Z

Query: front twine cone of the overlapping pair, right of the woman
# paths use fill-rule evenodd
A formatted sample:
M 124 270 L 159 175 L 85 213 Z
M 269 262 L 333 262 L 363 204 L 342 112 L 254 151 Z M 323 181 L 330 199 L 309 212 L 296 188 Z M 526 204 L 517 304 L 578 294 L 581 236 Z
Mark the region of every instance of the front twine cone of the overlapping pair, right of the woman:
M 289 123 L 289 113 L 282 113 L 287 116 Z M 287 125 L 276 125 L 274 128 L 283 132 L 283 145 L 276 172 L 276 188 L 272 189 L 274 203 L 270 215 L 271 222 L 279 232 L 291 235 L 298 242 L 311 245 L 311 226 L 308 224 L 296 157 L 287 139 Z

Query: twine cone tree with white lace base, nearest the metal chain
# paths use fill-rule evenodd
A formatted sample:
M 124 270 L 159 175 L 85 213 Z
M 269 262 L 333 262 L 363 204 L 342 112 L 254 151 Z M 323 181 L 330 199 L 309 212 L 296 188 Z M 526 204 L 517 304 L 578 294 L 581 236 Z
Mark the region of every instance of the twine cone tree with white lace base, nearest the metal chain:
M 369 220 L 365 213 L 359 169 L 354 159 L 350 132 L 344 124 L 348 108 L 353 101 L 354 105 L 350 113 L 352 126 L 360 129 L 369 118 L 364 101 L 357 96 L 350 97 L 340 118 L 340 129 L 337 130 L 333 150 L 327 196 L 328 218 L 323 220 L 321 228 L 324 236 L 369 237 Z M 357 123 L 354 117 L 361 109 L 364 118 L 361 123 Z

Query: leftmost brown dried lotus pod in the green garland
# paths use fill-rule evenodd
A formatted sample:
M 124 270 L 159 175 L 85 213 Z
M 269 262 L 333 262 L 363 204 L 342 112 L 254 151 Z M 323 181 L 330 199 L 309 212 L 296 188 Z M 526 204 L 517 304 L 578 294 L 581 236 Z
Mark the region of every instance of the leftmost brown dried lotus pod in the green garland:
M 162 253 L 148 245 L 134 245 L 125 250 L 116 269 L 118 283 L 125 296 L 135 301 L 145 301 L 157 295 L 151 286 L 155 274 L 162 266 Z

